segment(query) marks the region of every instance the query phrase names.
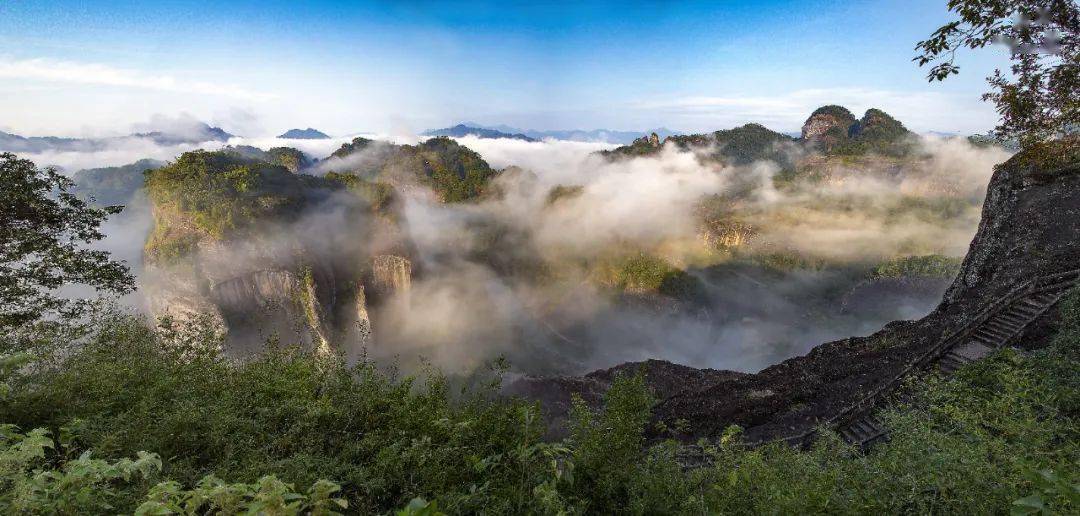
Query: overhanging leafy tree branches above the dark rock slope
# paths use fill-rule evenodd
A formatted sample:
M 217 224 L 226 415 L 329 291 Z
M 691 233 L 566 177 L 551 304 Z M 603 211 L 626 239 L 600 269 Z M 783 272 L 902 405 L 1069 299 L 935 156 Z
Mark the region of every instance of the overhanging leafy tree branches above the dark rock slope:
M 959 72 L 957 51 L 990 43 L 1009 46 L 1010 74 L 987 78 L 983 95 L 997 106 L 1000 138 L 1021 145 L 1075 132 L 1080 126 L 1080 5 L 1075 0 L 949 0 L 960 19 L 943 25 L 916 46 L 928 79 Z

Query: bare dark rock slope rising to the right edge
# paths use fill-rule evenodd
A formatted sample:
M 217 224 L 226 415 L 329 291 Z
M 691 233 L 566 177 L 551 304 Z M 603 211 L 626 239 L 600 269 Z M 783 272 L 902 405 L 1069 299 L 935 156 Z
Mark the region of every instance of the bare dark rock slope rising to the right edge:
M 653 417 L 664 424 L 657 426 L 686 429 L 676 437 L 713 438 L 731 424 L 745 429 L 748 439 L 786 436 L 890 381 L 943 335 L 1021 283 L 1078 267 L 1080 138 L 1069 138 L 998 166 L 960 273 L 941 304 L 919 321 L 893 322 L 868 337 L 826 342 L 755 375 L 652 361 L 581 378 L 524 378 L 507 391 L 540 399 L 557 423 L 572 393 L 596 403 L 615 371 L 643 368 L 660 399 Z M 1039 345 L 1035 337 L 1045 336 L 1048 325 L 1052 322 L 1037 322 L 1025 345 Z

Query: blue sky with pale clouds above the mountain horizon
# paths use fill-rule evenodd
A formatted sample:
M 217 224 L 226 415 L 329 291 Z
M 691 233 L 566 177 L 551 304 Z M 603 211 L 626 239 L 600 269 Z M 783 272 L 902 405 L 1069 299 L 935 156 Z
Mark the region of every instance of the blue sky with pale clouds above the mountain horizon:
M 993 126 L 978 96 L 1005 63 L 968 54 L 927 83 L 913 46 L 945 0 L 118 3 L 0 2 L 0 130 L 796 131 L 836 103 L 970 133 Z

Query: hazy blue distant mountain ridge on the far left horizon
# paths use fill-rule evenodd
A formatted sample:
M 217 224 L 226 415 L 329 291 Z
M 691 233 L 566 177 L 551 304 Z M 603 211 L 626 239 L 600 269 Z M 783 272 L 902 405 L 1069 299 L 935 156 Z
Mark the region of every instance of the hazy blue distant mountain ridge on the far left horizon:
M 149 139 L 158 145 L 202 144 L 203 141 L 228 141 L 234 135 L 205 123 L 199 123 L 190 128 L 176 132 L 151 131 L 132 133 L 127 136 L 109 136 L 105 138 L 66 138 L 58 136 L 19 136 L 0 132 L 0 151 L 8 152 L 45 152 L 73 151 L 93 152 L 108 149 L 125 139 Z

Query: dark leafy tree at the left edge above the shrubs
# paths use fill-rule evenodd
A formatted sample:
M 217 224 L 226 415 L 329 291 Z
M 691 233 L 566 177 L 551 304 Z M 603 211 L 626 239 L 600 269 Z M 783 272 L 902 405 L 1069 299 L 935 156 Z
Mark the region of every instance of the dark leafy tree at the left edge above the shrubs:
M 0 154 L 0 330 L 82 313 L 85 301 L 56 291 L 65 285 L 134 289 L 127 267 L 89 247 L 105 236 L 102 222 L 122 206 L 92 207 L 69 191 L 72 186 L 53 168 Z

